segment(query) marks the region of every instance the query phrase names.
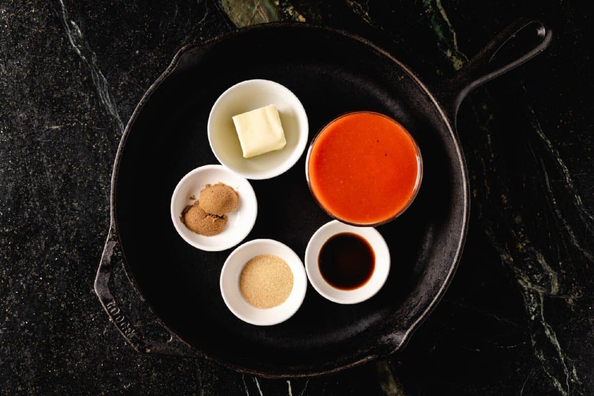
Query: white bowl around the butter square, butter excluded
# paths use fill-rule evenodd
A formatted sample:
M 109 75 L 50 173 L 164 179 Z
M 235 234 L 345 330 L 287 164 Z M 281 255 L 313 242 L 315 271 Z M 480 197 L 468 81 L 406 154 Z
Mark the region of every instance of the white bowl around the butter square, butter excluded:
M 287 144 L 281 150 L 244 158 L 233 116 L 276 104 Z M 220 163 L 247 179 L 270 179 L 286 172 L 305 150 L 309 134 L 303 104 L 285 86 L 247 80 L 223 92 L 208 116 L 208 142 Z

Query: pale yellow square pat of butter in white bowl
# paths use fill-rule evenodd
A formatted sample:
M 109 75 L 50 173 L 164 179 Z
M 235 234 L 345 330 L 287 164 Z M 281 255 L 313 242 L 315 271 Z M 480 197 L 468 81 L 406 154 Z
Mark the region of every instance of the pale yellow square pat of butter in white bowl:
M 244 158 L 285 147 L 285 132 L 274 104 L 233 117 Z

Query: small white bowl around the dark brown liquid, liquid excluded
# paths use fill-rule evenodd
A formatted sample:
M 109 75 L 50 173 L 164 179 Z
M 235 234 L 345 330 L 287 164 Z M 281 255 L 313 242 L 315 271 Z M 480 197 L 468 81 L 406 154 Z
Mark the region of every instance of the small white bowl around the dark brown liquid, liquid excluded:
M 337 289 L 330 286 L 320 273 L 320 265 L 318 264 L 320 249 L 328 238 L 343 232 L 350 232 L 364 237 L 374 250 L 375 268 L 373 274 L 367 283 L 358 289 Z M 373 227 L 355 227 L 333 220 L 321 226 L 309 239 L 305 249 L 305 271 L 307 271 L 311 286 L 328 300 L 339 304 L 360 303 L 373 297 L 386 283 L 390 273 L 390 249 L 388 249 L 384 237 Z

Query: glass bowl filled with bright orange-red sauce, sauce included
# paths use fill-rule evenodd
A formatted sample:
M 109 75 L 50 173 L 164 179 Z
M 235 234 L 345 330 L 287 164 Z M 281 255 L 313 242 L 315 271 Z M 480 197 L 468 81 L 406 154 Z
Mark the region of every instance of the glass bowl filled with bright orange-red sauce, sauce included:
M 419 147 L 388 116 L 352 112 L 330 121 L 309 147 L 312 195 L 330 216 L 356 226 L 393 220 L 421 185 Z

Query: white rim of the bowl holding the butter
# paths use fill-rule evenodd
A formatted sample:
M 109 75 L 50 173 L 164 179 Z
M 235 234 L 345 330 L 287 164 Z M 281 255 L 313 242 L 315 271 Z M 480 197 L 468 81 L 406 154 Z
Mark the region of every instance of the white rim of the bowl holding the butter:
M 277 87 L 280 87 L 282 90 L 285 90 L 289 95 L 293 96 L 295 98 L 296 102 L 298 103 L 298 106 L 295 106 L 294 108 L 296 109 L 297 113 L 301 113 L 301 115 L 299 115 L 298 118 L 302 119 L 304 121 L 304 125 L 305 125 L 305 131 L 302 132 L 301 131 L 302 128 L 299 128 L 299 138 L 298 138 L 297 145 L 295 146 L 293 151 L 289 154 L 289 156 L 287 156 L 285 161 L 280 163 L 279 166 L 274 167 L 270 170 L 263 171 L 263 172 L 256 172 L 256 173 L 243 172 L 242 170 L 238 170 L 232 166 L 229 166 L 228 163 L 226 161 L 223 161 L 221 159 L 221 157 L 219 156 L 219 154 L 217 154 L 217 151 L 214 149 L 214 145 L 213 145 L 213 141 L 212 141 L 212 136 L 213 136 L 214 132 L 213 132 L 213 128 L 211 128 L 211 120 L 213 119 L 214 109 L 217 107 L 217 105 L 220 104 L 220 102 L 222 102 L 223 97 L 228 95 L 231 91 L 235 90 L 238 87 L 241 87 L 242 85 L 248 85 L 248 84 L 271 84 L 271 85 L 277 85 Z M 255 109 L 253 109 L 253 110 L 255 110 Z M 239 83 L 231 85 L 229 88 L 227 88 L 225 91 L 223 91 L 219 95 L 219 97 L 217 97 L 217 99 L 213 103 L 213 106 L 210 108 L 210 112 L 208 113 L 208 121 L 206 123 L 206 131 L 207 131 L 207 136 L 208 136 L 208 145 L 210 145 L 210 150 L 213 152 L 214 157 L 216 157 L 217 161 L 219 161 L 224 166 L 228 167 L 228 169 L 231 170 L 232 172 L 235 172 L 238 175 L 240 175 L 246 179 L 265 180 L 265 179 L 271 179 L 271 178 L 275 178 L 276 176 L 282 175 L 283 173 L 287 172 L 287 170 L 291 169 L 293 167 L 293 165 L 295 165 L 297 163 L 297 161 L 299 161 L 299 159 L 301 158 L 301 156 L 303 155 L 303 153 L 305 151 L 305 147 L 307 146 L 307 141 L 309 138 L 309 120 L 307 118 L 307 112 L 305 111 L 305 107 L 303 106 L 303 103 L 301 103 L 301 100 L 299 100 L 299 97 L 296 96 L 296 94 L 293 93 L 293 91 L 291 91 L 289 88 L 285 87 L 285 85 L 277 83 L 276 81 L 273 81 L 273 80 L 266 80 L 265 78 L 252 78 L 251 80 L 243 80 L 243 81 L 239 81 Z

